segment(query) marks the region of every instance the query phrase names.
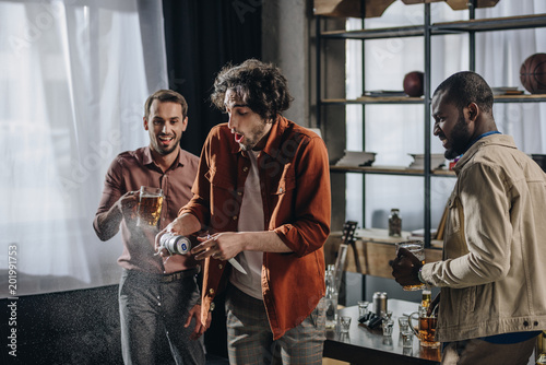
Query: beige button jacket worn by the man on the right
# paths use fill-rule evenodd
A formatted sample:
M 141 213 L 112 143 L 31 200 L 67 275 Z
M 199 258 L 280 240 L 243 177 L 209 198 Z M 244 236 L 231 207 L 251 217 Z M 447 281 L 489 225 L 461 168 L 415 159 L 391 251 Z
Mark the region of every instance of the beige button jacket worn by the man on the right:
M 456 163 L 443 260 L 441 342 L 546 329 L 546 174 L 509 136 L 491 134 Z

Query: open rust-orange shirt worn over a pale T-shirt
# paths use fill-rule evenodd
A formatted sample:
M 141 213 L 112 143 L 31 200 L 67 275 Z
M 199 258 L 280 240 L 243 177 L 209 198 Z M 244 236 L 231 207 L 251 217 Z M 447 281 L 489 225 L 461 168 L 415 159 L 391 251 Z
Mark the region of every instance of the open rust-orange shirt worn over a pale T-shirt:
M 298 326 L 324 295 L 324 254 L 330 234 L 330 167 L 314 132 L 277 117 L 258 157 L 264 226 L 293 250 L 263 254 L 262 293 L 274 339 Z M 250 168 L 226 123 L 214 127 L 201 152 L 193 198 L 180 210 L 211 232 L 236 232 Z M 205 260 L 202 319 L 207 316 L 226 262 Z

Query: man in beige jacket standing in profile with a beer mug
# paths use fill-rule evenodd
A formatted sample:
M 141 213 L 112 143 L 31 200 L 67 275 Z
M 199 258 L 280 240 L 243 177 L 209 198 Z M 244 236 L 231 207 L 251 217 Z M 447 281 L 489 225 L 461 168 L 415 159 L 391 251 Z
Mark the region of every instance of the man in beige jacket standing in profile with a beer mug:
M 459 72 L 432 97 L 434 133 L 461 156 L 448 201 L 443 258 L 422 264 L 401 249 L 401 285 L 441 287 L 442 364 L 527 364 L 546 329 L 546 174 L 497 130 L 492 92 Z

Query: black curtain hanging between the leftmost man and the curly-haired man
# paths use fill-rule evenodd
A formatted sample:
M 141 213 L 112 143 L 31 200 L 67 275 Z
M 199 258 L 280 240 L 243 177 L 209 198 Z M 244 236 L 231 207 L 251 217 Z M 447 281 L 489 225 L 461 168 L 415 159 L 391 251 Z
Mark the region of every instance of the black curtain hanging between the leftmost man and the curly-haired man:
M 182 149 L 201 153 L 224 115 L 212 107 L 214 78 L 227 63 L 261 58 L 261 1 L 163 0 L 169 87 L 188 101 Z

